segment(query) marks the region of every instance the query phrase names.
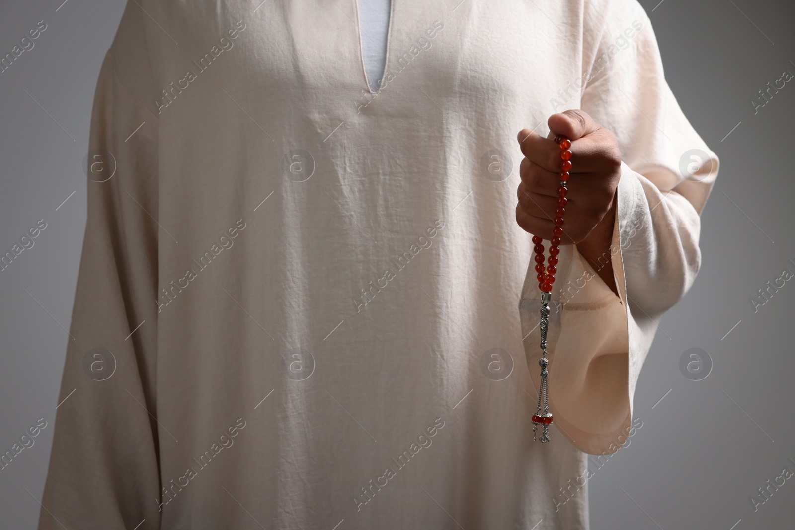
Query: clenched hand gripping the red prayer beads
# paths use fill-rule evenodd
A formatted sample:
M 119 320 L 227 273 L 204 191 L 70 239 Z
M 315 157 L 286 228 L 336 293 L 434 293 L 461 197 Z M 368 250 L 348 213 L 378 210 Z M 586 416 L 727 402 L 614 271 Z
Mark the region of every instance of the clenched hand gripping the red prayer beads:
M 583 110 L 553 114 L 547 124 L 551 131 L 547 138 L 528 129 L 519 131 L 518 141 L 525 158 L 519 165 L 522 182 L 518 189 L 516 222 L 530 234 L 547 241 L 553 238 L 561 160 L 560 146 L 552 138 L 560 134 L 572 141 L 569 148 L 572 169 L 561 244 L 576 244 L 580 248 L 585 243 L 589 247 L 608 248 L 615 216 L 615 189 L 621 176 L 618 142 L 613 133 L 599 126 Z M 597 227 L 600 230 L 595 230 Z M 596 245 L 586 243 L 592 233 L 599 239 Z M 605 234 L 607 245 L 603 244 Z

